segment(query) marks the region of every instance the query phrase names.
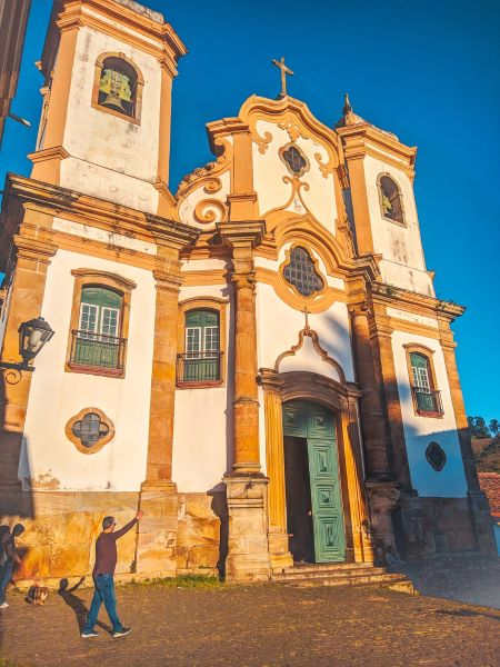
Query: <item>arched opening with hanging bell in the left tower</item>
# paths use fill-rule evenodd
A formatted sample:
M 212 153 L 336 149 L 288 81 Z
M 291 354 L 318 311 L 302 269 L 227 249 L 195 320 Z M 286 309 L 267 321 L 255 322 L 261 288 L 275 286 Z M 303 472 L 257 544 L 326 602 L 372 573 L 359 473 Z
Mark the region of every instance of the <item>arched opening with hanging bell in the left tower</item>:
M 123 53 L 102 53 L 96 62 L 92 106 L 139 122 L 143 79 Z

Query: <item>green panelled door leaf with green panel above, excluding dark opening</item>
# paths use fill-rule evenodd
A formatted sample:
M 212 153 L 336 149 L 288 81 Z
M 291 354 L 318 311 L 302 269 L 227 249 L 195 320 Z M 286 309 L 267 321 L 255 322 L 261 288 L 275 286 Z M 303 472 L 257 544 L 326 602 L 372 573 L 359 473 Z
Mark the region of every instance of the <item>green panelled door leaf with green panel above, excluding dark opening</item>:
M 346 531 L 333 415 L 308 401 L 284 404 L 283 435 L 307 440 L 316 561 L 344 560 Z

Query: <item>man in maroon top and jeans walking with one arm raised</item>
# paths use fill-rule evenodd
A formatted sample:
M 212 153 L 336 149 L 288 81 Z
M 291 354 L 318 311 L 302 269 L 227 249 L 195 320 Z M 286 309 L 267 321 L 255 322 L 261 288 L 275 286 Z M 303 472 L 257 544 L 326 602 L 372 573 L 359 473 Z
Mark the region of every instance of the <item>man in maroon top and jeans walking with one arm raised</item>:
M 113 575 L 117 567 L 117 539 L 128 532 L 142 515 L 142 511 L 138 511 L 136 517 L 126 524 L 123 528 L 120 528 L 120 530 L 114 530 L 117 525 L 114 517 L 104 517 L 102 519 L 102 532 L 96 541 L 96 565 L 92 571 L 96 590 L 86 625 L 81 631 L 81 636 L 84 638 L 99 636 L 93 626 L 96 625 L 102 603 L 104 603 L 109 619 L 113 626 L 113 637 L 124 637 L 132 629 L 124 628 L 118 618 Z

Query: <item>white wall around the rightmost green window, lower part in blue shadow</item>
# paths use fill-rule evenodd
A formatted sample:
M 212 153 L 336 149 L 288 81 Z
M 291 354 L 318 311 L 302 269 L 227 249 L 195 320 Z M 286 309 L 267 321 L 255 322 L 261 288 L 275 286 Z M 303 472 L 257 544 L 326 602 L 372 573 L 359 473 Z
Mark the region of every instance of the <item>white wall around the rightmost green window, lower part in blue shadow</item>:
M 414 414 L 403 347 L 409 344 L 424 345 L 434 350 L 432 359 L 437 389 L 441 391 L 444 410 L 441 419 Z M 433 338 L 394 331 L 392 351 L 412 485 L 423 497 L 463 498 L 467 496 L 466 474 L 441 346 Z M 441 472 L 437 472 L 426 458 L 426 449 L 431 441 L 438 442 L 447 455 L 447 464 Z

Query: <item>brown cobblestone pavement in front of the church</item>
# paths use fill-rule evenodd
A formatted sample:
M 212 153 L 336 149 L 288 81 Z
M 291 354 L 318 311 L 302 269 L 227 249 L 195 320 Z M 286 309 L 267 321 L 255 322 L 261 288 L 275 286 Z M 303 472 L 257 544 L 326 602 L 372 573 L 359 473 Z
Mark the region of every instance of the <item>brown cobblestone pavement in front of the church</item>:
M 500 665 L 500 610 L 376 588 L 118 588 L 131 635 L 79 636 L 91 590 L 11 594 L 2 656 L 22 667 Z M 101 618 L 107 625 L 106 614 Z M 1 661 L 0 661 L 1 664 Z

